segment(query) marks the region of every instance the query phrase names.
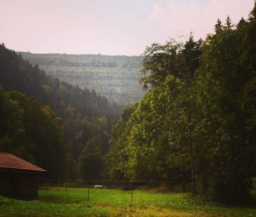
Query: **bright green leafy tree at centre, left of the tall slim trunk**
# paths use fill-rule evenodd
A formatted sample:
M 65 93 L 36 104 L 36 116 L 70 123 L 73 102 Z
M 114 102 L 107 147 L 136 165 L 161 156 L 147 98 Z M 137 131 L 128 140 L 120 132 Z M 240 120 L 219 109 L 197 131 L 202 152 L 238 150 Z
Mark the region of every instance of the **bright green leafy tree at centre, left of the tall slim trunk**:
M 177 164 L 173 145 L 175 114 L 172 112 L 180 93 L 180 79 L 167 76 L 164 85 L 144 95 L 130 119 L 127 176 L 138 180 L 185 180 L 187 161 Z M 167 87 L 170 87 L 167 88 Z M 170 94 L 171 92 L 172 94 Z M 182 161 L 179 161 L 182 162 Z

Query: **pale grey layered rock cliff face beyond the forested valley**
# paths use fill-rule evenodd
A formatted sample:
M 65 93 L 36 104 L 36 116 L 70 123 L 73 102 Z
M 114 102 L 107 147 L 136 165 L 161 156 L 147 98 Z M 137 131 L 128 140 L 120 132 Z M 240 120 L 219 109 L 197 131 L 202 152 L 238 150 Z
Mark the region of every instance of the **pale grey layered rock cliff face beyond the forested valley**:
M 95 90 L 109 101 L 138 102 L 145 93 L 139 83 L 142 56 L 71 55 L 21 53 L 47 75 L 80 88 Z

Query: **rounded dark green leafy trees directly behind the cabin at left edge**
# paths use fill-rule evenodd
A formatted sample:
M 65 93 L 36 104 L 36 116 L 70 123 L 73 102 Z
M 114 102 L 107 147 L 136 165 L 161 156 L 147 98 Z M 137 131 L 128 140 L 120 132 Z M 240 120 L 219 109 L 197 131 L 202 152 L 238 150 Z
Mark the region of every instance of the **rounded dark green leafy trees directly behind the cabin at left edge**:
M 11 152 L 42 167 L 49 178 L 58 178 L 65 171 L 65 149 L 60 119 L 49 106 L 41 107 L 34 98 L 11 91 L 1 92 L 0 150 Z

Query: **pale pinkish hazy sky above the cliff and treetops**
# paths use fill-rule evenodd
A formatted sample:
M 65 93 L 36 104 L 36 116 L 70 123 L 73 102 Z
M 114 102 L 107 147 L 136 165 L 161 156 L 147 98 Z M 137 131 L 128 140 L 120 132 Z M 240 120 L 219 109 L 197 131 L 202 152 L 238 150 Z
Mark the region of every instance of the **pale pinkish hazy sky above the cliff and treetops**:
M 178 35 L 205 39 L 253 0 L 0 0 L 0 43 L 15 51 L 141 55 Z

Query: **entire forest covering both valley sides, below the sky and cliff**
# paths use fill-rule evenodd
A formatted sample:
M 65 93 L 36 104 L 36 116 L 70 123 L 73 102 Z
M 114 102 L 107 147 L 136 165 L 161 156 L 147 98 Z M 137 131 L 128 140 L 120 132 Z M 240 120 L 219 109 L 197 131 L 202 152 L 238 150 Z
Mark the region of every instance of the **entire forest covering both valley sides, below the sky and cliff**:
M 51 178 L 189 181 L 192 195 L 248 204 L 256 177 L 255 39 L 256 2 L 246 20 L 217 20 L 205 40 L 153 43 L 138 72 L 149 91 L 123 110 L 46 76 L 2 44 L 0 151 Z

